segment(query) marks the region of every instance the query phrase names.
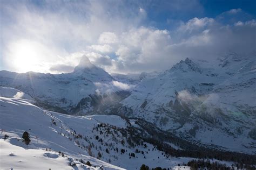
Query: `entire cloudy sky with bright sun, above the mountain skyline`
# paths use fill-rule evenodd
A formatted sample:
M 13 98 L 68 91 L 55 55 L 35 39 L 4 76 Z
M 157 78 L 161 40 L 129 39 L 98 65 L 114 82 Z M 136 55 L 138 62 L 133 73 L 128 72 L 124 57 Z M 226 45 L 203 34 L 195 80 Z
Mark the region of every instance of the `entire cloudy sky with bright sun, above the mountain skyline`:
M 256 1 L 1 1 L 0 69 L 167 69 L 255 49 Z

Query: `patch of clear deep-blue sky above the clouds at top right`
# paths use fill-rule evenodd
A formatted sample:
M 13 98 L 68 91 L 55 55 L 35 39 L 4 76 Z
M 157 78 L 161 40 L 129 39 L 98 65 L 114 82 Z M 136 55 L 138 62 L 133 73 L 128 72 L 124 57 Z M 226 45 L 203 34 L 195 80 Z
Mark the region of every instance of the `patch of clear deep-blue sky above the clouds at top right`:
M 148 13 L 148 21 L 154 21 L 161 29 L 170 29 L 170 25 L 166 20 L 189 20 L 197 17 L 215 18 L 223 12 L 231 9 L 242 9 L 244 12 L 255 18 L 256 1 L 177 1 L 179 6 L 173 9 L 172 1 L 155 1 L 155 4 L 142 5 Z M 142 3 L 143 4 L 143 3 Z M 184 8 L 184 6 L 187 6 Z M 159 27 L 159 28 L 160 28 Z

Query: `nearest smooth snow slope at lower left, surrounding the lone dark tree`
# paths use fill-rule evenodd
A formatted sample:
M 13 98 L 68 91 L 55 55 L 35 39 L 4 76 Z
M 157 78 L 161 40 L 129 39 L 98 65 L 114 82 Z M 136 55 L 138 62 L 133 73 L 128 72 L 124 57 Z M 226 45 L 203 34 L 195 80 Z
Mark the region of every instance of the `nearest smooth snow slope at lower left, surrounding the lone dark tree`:
M 86 165 L 86 162 L 90 161 L 92 169 L 100 169 L 100 166 L 105 169 L 122 169 L 90 157 L 86 148 L 82 149 L 78 147 L 76 141 L 70 140 L 75 135 L 74 130 L 69 127 L 71 125 L 64 123 L 50 112 L 17 98 L 0 97 L 0 103 L 1 168 L 70 169 L 70 164 L 75 163 L 78 169 L 85 169 L 90 167 Z M 66 119 L 69 118 L 71 117 Z M 77 119 L 79 118 L 72 120 L 76 122 Z M 96 122 L 84 121 L 84 123 L 90 123 L 87 128 L 84 128 L 87 130 Z M 77 124 L 77 128 L 78 126 Z M 22 142 L 21 137 L 24 131 L 30 134 L 29 145 Z M 7 139 L 3 139 L 5 135 L 8 136 Z M 89 145 L 85 140 L 83 144 L 86 147 Z M 59 151 L 64 155 L 62 156 Z

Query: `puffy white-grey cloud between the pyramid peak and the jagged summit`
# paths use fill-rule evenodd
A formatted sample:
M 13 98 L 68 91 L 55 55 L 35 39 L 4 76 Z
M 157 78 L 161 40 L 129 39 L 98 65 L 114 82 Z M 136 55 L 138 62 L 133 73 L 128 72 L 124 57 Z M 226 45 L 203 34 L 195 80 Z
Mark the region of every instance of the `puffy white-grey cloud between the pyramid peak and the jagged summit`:
M 152 62 L 160 53 L 165 53 L 164 47 L 171 42 L 170 33 L 167 30 L 149 29 L 139 27 L 125 32 L 121 36 L 121 43 L 116 51 L 118 60 L 127 62 L 131 66 L 134 62 Z M 166 54 L 164 54 L 166 55 Z

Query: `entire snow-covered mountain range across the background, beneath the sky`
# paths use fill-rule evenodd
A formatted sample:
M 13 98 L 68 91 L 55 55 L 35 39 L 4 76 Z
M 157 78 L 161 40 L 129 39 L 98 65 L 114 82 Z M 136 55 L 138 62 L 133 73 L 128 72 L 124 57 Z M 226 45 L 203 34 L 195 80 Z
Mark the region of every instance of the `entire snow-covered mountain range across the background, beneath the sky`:
M 156 138 L 171 146 L 177 147 L 176 141 L 169 141 L 174 136 L 180 148 L 188 142 L 197 147 L 255 154 L 255 56 L 229 53 L 211 62 L 186 58 L 159 74 L 125 76 L 111 76 L 83 58 L 68 74 L 1 71 L 0 86 L 18 89 L 6 97 L 23 91 L 34 101 L 30 103 L 51 111 L 136 120 L 136 127 L 146 134 L 170 135 Z M 145 126 L 157 130 L 150 133 Z

